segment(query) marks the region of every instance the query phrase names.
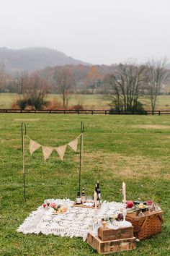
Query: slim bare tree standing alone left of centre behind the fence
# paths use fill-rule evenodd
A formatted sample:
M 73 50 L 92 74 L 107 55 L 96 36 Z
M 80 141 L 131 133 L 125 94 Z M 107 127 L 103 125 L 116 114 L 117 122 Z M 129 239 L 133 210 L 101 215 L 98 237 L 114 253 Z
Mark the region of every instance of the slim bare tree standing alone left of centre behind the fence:
M 68 106 L 71 88 L 73 88 L 73 74 L 67 67 L 62 67 L 55 71 L 53 77 L 56 82 L 58 93 L 61 93 L 63 107 L 66 108 Z

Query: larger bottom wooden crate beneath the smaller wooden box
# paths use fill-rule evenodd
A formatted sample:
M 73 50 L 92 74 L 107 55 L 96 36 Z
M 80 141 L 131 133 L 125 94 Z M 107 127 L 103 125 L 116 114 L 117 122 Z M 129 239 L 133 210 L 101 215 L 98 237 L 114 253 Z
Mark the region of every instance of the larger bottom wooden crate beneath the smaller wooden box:
M 135 237 L 114 241 L 102 241 L 98 236 L 88 233 L 86 242 L 94 249 L 97 249 L 99 254 L 122 252 L 135 248 Z

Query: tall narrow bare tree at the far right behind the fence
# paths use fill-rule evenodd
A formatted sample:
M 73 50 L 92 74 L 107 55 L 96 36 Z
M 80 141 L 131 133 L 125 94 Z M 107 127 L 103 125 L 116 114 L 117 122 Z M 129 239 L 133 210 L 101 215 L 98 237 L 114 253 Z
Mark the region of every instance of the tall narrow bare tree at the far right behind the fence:
M 146 62 L 146 77 L 148 85 L 148 94 L 151 98 L 152 111 L 156 108 L 156 100 L 158 94 L 169 77 L 166 69 L 167 59 L 151 59 Z

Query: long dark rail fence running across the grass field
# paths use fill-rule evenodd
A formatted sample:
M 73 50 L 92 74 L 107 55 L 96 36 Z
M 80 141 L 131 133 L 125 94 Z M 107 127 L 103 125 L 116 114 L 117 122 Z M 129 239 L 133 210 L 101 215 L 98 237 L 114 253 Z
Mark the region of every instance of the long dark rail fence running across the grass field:
M 113 114 L 113 115 L 168 115 L 169 110 L 160 111 L 113 111 L 113 110 L 73 110 L 73 109 L 13 109 L 13 108 L 0 108 L 0 113 L 34 113 L 34 114 Z

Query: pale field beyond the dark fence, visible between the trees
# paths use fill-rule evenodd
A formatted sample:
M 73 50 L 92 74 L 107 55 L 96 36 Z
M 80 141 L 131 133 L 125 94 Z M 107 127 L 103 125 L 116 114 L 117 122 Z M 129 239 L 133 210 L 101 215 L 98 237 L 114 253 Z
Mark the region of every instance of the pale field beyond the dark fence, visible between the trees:
M 15 93 L 0 93 L 0 108 L 11 108 L 12 103 L 16 98 Z M 48 100 L 57 99 L 62 103 L 60 95 L 50 94 Z M 149 98 L 140 98 L 146 110 L 151 110 Z M 109 109 L 110 101 L 104 98 L 104 95 L 70 95 L 69 106 L 82 104 L 86 109 Z M 170 110 L 170 95 L 159 95 L 156 103 L 156 110 Z

